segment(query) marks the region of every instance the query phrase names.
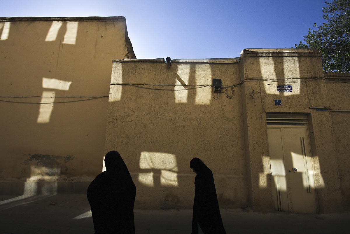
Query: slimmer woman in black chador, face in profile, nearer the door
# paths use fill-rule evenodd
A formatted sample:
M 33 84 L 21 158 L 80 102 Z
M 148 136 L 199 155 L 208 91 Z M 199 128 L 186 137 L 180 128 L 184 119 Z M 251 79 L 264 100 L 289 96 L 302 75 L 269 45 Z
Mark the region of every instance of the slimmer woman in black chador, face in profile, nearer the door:
M 197 173 L 195 199 L 193 202 L 192 234 L 226 234 L 222 223 L 213 173 L 199 158 L 190 161 Z

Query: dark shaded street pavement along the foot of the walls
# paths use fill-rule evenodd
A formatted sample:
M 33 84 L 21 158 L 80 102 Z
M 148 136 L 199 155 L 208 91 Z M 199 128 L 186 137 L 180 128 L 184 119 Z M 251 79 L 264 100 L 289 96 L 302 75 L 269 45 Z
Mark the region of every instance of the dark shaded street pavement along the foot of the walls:
M 190 234 L 191 210 L 135 210 L 137 234 Z M 350 233 L 350 212 L 342 214 L 258 213 L 222 209 L 227 234 Z M 0 234 L 93 234 L 84 194 L 0 196 Z

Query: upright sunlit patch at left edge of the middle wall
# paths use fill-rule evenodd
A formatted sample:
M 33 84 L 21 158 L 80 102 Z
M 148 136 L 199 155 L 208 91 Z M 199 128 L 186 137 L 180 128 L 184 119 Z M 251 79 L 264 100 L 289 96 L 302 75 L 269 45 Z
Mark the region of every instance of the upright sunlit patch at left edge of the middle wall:
M 123 83 L 123 67 L 121 63 L 113 63 L 111 83 Z M 109 102 L 117 102 L 121 99 L 123 85 L 110 85 Z

